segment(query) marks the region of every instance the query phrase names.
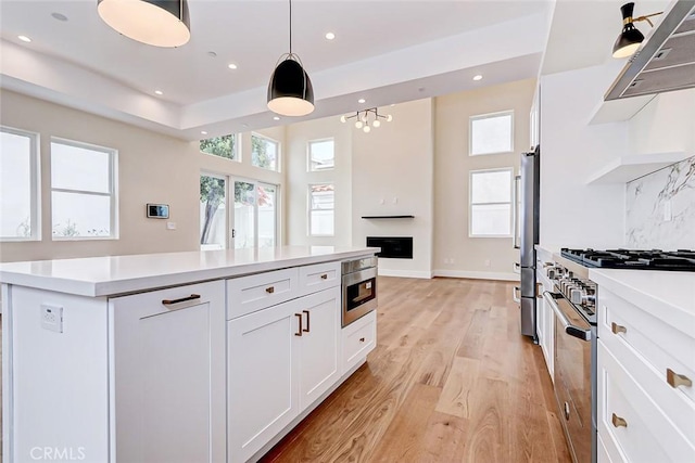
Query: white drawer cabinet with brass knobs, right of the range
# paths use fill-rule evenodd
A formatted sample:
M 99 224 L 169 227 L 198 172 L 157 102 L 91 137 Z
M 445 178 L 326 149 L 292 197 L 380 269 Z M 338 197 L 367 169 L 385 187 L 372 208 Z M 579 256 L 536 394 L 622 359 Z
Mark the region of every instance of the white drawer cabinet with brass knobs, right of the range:
M 692 330 L 603 286 L 597 313 L 597 425 L 610 461 L 695 461 Z

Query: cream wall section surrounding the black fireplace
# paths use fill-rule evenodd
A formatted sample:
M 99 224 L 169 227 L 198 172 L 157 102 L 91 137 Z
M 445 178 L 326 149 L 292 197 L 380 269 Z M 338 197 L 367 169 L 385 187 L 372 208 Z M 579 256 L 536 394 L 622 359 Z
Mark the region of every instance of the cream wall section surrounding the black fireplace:
M 379 261 L 379 273 L 431 276 L 433 236 L 433 101 L 380 108 L 393 121 L 364 133 L 353 127 L 352 234 L 413 236 L 413 259 Z M 368 220 L 362 216 L 413 215 L 414 219 Z

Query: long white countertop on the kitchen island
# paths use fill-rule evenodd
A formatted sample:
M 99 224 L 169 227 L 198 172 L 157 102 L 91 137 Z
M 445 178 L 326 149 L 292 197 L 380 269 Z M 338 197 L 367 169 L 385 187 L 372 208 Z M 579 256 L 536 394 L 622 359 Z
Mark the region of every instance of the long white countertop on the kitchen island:
M 0 263 L 0 282 L 81 296 L 112 296 L 378 252 L 378 247 L 282 246 L 9 262 Z

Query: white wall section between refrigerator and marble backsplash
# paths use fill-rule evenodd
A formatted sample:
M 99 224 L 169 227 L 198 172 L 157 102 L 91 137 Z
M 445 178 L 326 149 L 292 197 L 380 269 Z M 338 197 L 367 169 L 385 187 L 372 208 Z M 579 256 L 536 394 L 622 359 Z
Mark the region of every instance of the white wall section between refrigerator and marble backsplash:
M 624 243 L 626 185 L 586 184 L 628 151 L 627 121 L 589 125 L 617 69 L 610 63 L 541 78 L 540 242 L 545 248 Z

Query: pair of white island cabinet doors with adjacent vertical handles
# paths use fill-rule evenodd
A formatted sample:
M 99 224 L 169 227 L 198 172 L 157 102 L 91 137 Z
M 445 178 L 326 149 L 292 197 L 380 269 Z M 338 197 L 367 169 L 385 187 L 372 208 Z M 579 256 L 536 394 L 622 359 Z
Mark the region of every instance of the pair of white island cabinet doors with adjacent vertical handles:
M 249 460 L 340 380 L 341 294 L 333 281 L 227 322 L 228 461 Z

